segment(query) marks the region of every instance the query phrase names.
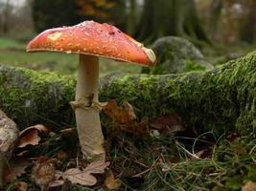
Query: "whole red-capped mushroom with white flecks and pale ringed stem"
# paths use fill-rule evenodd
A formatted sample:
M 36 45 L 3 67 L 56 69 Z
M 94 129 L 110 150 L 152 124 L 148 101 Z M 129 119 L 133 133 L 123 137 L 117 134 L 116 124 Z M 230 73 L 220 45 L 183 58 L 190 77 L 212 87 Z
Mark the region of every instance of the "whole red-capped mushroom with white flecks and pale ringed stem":
M 117 28 L 93 21 L 41 32 L 27 46 L 29 53 L 46 51 L 79 53 L 76 100 L 71 105 L 81 152 L 86 159 L 105 159 L 98 102 L 99 56 L 152 66 L 154 53 Z

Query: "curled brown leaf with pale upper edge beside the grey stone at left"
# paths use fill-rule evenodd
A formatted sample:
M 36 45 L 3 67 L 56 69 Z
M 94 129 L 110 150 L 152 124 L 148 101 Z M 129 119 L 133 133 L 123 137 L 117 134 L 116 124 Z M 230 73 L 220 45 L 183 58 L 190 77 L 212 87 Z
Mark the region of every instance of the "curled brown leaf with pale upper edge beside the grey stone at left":
M 49 134 L 50 130 L 46 126 L 41 125 L 41 124 L 31 126 L 31 127 L 24 129 L 19 134 L 19 143 L 18 143 L 17 147 L 23 148 L 30 144 L 37 145 L 41 139 L 38 137 L 38 132 L 43 132 L 45 134 Z

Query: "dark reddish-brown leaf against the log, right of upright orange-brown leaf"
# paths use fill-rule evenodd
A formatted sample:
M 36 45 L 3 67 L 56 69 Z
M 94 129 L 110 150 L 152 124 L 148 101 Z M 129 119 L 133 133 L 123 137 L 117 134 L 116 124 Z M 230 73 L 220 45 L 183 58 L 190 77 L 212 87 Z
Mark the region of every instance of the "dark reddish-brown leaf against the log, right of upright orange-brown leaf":
M 162 135 L 170 135 L 176 131 L 184 131 L 180 118 L 175 114 L 157 117 L 151 122 L 151 127 L 157 129 Z

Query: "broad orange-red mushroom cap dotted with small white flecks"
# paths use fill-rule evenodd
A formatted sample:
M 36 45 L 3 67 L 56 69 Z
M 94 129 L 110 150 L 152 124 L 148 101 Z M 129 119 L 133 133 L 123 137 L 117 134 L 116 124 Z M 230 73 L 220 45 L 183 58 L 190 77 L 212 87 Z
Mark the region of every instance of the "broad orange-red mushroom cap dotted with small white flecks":
M 116 60 L 154 65 L 155 56 L 128 34 L 114 26 L 84 21 L 39 33 L 27 46 L 27 52 L 64 52 L 104 56 Z

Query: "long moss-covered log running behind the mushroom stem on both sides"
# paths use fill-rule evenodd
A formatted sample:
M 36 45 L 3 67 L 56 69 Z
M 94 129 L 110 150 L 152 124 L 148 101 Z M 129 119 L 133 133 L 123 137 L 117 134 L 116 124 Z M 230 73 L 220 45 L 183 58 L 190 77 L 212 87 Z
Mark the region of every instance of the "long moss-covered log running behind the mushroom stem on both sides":
M 74 122 L 75 76 L 0 67 L 3 109 L 24 128 Z M 128 100 L 138 117 L 177 114 L 203 131 L 256 133 L 256 52 L 214 71 L 188 74 L 111 74 L 100 82 L 100 100 Z

